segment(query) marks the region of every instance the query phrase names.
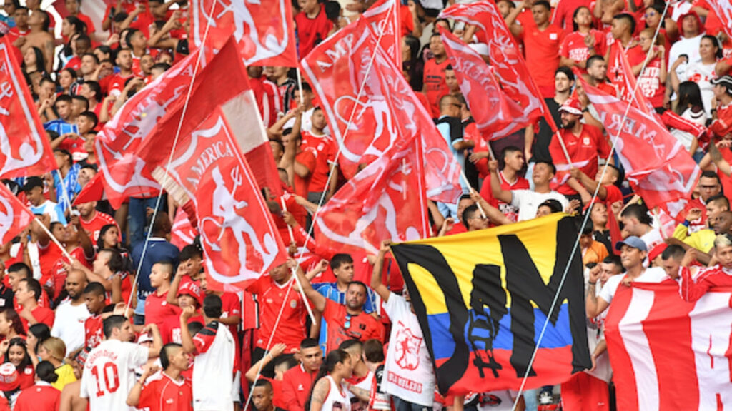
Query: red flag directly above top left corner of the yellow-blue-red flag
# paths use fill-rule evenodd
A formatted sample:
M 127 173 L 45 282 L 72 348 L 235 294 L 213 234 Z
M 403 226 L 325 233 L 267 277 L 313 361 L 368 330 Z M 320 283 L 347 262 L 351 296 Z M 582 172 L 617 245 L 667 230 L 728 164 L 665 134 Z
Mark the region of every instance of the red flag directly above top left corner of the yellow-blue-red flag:
M 381 241 L 429 236 L 419 139 L 372 162 L 318 212 L 315 241 L 330 252 L 376 254 Z

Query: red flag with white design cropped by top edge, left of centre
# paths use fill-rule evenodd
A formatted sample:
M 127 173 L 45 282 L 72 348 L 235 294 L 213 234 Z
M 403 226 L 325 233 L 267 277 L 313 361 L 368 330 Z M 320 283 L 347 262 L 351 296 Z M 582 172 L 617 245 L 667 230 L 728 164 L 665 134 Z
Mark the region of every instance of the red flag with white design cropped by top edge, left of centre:
M 289 0 L 192 0 L 191 37 L 216 53 L 234 34 L 247 66 L 297 67 L 295 20 Z M 207 53 L 208 54 L 208 53 Z

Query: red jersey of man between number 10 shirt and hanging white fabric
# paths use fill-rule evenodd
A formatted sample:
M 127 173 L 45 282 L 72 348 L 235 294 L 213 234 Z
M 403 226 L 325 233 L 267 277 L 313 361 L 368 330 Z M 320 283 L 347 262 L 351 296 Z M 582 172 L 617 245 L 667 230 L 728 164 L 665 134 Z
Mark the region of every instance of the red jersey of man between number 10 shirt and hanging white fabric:
M 150 377 L 140 393 L 138 408 L 150 411 L 193 411 L 190 381 L 173 380 L 165 372 Z

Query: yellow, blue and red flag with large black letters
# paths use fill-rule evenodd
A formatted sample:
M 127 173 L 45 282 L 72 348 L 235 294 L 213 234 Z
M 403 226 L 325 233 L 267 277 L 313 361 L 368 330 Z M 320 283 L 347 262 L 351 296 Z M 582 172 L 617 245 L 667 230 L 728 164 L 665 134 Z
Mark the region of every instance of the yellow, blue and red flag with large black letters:
M 552 214 L 392 245 L 442 394 L 518 390 L 547 317 L 525 388 L 591 367 L 576 238 L 572 217 Z

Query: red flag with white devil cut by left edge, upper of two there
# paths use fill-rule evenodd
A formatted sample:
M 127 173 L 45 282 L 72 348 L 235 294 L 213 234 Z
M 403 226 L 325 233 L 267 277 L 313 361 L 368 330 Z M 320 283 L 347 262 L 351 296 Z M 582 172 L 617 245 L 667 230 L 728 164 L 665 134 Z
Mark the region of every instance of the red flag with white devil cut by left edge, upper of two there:
M 0 40 L 0 178 L 58 168 L 9 37 Z

